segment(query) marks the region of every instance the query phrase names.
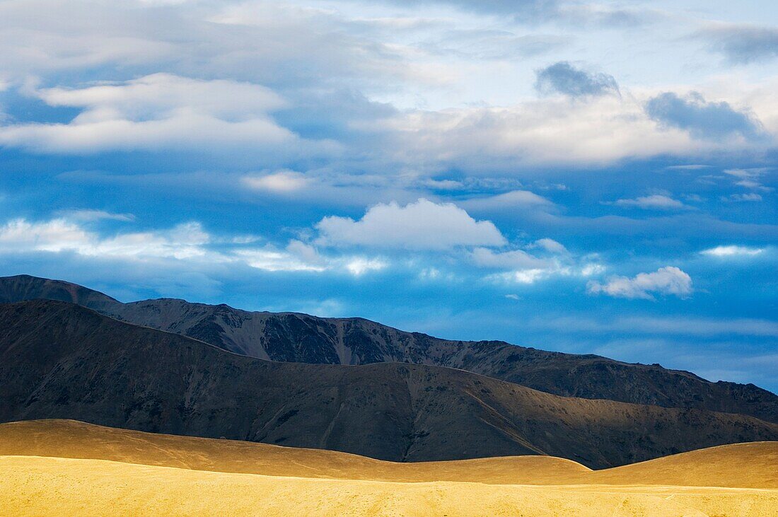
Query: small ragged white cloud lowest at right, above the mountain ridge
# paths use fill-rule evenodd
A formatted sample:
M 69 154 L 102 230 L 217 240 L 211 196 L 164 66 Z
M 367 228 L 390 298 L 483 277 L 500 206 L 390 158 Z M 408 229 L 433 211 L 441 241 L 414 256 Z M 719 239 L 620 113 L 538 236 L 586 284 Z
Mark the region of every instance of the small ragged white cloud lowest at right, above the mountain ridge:
M 678 267 L 660 267 L 654 273 L 640 273 L 633 278 L 608 278 L 605 284 L 589 281 L 587 292 L 626 299 L 653 300 L 654 294 L 686 298 L 692 294 L 692 278 Z

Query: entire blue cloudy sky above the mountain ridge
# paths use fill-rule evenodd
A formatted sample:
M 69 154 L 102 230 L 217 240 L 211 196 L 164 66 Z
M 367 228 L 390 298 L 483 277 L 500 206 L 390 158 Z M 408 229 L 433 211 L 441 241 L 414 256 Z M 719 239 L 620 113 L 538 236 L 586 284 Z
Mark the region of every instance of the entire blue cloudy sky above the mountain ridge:
M 778 5 L 0 2 L 0 274 L 778 392 Z

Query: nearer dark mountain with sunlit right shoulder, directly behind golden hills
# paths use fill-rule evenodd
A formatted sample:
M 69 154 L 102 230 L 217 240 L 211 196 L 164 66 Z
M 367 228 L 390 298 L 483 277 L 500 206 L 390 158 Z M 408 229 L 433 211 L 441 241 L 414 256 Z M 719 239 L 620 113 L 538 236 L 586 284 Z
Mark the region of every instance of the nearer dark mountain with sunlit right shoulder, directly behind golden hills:
M 755 417 L 586 400 L 429 365 L 268 362 L 67 302 L 0 305 L 0 421 L 71 418 L 397 461 L 617 466 L 778 439 Z

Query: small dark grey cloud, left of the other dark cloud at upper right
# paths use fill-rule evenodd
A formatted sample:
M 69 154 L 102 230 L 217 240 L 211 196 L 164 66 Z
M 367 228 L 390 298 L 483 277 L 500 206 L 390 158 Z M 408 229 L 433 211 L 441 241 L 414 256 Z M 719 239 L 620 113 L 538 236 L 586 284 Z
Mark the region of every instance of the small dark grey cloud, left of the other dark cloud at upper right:
M 559 61 L 535 72 L 535 89 L 540 93 L 562 93 L 570 97 L 600 96 L 619 93 L 612 75 L 590 73 Z

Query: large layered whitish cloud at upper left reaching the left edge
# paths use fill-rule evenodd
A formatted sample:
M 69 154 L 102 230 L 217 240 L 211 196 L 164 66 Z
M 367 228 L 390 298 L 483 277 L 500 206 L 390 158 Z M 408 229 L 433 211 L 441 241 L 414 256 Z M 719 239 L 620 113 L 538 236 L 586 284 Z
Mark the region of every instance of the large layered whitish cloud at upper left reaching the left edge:
M 0 145 L 93 154 L 163 148 L 271 149 L 301 143 L 269 115 L 286 106 L 285 101 L 264 86 L 246 82 L 159 73 L 36 94 L 49 106 L 82 111 L 67 124 L 0 126 Z

